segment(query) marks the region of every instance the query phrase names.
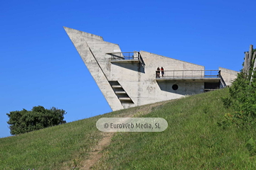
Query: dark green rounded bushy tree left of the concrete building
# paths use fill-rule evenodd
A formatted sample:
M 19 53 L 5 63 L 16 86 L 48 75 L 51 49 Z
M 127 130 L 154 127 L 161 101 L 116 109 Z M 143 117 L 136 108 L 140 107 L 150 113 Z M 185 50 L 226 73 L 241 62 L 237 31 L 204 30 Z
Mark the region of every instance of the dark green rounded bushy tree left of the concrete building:
M 31 111 L 11 111 L 6 113 L 9 117 L 7 122 L 10 126 L 11 135 L 18 135 L 33 130 L 47 128 L 53 125 L 66 123 L 64 115 L 66 112 L 58 108 L 46 109 L 43 106 L 35 106 Z

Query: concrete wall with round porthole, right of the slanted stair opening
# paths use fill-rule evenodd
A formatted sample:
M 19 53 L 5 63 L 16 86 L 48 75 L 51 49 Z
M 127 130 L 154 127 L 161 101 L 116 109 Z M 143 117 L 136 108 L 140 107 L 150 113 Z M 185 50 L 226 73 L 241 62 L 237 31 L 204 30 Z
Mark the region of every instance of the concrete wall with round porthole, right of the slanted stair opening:
M 164 67 L 165 70 L 203 70 L 203 66 L 150 52 L 140 51 L 140 54 L 144 63 L 111 64 L 110 79 L 112 81 L 119 81 L 119 84 L 123 86 L 129 97 L 134 101 L 133 105 L 129 104 L 124 106 L 125 108 L 180 98 L 186 94 L 199 94 L 203 92 L 203 82 L 156 82 L 157 67 Z M 174 84 L 178 85 L 176 91 L 172 89 Z

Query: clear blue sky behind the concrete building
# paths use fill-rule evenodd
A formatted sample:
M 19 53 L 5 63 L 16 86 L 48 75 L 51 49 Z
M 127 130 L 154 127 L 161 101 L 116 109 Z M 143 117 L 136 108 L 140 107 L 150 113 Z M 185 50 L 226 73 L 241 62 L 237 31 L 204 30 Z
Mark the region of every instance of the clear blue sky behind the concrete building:
M 61 108 L 67 122 L 111 111 L 63 26 L 206 69 L 239 71 L 256 47 L 256 1 L 1 1 L 0 137 L 10 111 Z

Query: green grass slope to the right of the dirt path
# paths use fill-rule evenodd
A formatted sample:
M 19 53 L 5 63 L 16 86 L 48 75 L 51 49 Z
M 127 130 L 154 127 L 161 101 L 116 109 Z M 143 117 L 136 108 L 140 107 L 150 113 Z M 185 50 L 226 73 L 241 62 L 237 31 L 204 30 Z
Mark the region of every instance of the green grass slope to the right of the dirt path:
M 228 89 L 199 94 L 155 108 L 147 118 L 165 118 L 164 132 L 119 132 L 94 169 L 256 169 L 245 143 L 255 130 L 218 127 Z

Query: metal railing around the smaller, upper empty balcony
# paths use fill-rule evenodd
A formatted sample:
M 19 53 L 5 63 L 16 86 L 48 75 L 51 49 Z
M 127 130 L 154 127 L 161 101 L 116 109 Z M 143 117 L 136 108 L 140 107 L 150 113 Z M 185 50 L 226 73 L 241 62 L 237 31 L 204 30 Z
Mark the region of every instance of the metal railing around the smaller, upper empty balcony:
M 140 60 L 139 52 L 111 52 L 111 60 Z

